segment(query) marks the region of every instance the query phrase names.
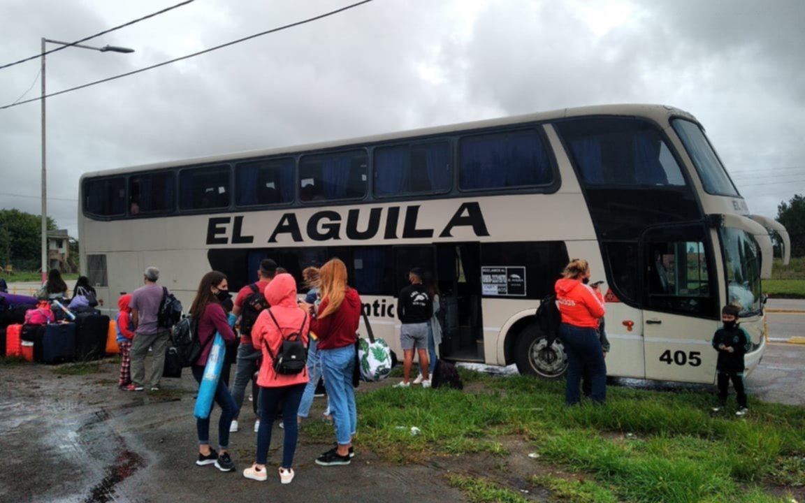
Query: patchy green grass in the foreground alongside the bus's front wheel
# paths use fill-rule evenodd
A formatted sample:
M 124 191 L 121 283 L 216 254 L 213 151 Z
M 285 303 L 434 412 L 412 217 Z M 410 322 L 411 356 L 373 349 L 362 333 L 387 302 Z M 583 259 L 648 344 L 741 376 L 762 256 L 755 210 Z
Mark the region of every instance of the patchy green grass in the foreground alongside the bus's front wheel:
M 750 397 L 749 416 L 716 417 L 710 392 L 622 387 L 609 387 L 606 406 L 567 407 L 564 383 L 460 373 L 465 385 L 481 384 L 469 386 L 477 391 L 386 386 L 359 394 L 361 444 L 397 463 L 476 452 L 505 463 L 502 437 L 514 435 L 540 464 L 588 482 L 530 481 L 559 501 L 785 501 L 765 485 L 805 484 L 803 407 Z M 411 435 L 414 426 L 419 435 Z M 452 484 L 470 501 L 522 501 L 495 493 L 501 488 L 489 480 L 459 476 Z

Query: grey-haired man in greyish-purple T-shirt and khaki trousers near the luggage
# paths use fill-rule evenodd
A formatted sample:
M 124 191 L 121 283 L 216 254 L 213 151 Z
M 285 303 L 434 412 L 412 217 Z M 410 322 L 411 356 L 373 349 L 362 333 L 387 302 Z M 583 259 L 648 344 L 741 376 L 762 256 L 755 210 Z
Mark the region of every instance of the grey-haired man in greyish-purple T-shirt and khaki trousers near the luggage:
M 129 303 L 134 339 L 131 341 L 131 384 L 126 390 L 142 391 L 149 386 L 151 391 L 159 391 L 171 329 L 159 326 L 159 307 L 163 299 L 163 288 L 157 284 L 159 269 L 147 267 L 143 279 L 145 285 L 131 292 Z M 148 348 L 151 348 L 151 372 L 146 376 Z

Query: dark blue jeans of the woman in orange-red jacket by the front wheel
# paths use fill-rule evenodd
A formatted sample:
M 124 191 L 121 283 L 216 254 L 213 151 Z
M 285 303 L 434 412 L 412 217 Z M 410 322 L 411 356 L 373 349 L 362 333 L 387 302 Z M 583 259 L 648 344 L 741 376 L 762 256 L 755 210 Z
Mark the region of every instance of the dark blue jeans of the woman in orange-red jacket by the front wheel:
M 559 339 L 564 344 L 565 353 L 568 353 L 565 402 L 576 405 L 581 401 L 579 386 L 582 373 L 586 371 L 590 377 L 590 398 L 593 402 L 603 404 L 606 401 L 606 363 L 598 331 L 595 328 L 560 324 Z

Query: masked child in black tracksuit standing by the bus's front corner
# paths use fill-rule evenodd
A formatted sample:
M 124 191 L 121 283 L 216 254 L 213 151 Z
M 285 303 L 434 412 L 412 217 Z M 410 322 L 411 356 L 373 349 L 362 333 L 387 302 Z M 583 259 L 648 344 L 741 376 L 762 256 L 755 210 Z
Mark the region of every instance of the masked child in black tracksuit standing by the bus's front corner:
M 735 394 L 738 400 L 738 410 L 736 415 L 746 414 L 746 392 L 744 388 L 744 355 L 752 348 L 752 340 L 749 334 L 738 324 L 738 314 L 741 311 L 732 305 L 725 306 L 721 310 L 721 321 L 724 328 L 716 330 L 712 337 L 712 347 L 718 351 L 718 361 L 716 362 L 716 372 L 718 381 L 719 407 L 713 408 L 719 411 L 727 402 L 727 386 L 729 381 L 733 381 Z

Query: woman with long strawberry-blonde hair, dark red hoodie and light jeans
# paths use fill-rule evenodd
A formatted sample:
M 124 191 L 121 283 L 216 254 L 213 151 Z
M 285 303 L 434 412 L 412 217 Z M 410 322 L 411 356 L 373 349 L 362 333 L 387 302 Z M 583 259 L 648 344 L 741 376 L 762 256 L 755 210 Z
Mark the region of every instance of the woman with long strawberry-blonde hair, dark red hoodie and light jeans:
M 355 343 L 361 320 L 361 297 L 347 285 L 347 267 L 332 258 L 319 270 L 321 303 L 303 307 L 316 313 L 311 330 L 319 336 L 318 350 L 324 373 L 324 387 L 336 427 L 337 445 L 316 459 L 316 464 L 349 464 L 353 456 L 352 439 L 357 431 L 357 409 L 353 389 Z

